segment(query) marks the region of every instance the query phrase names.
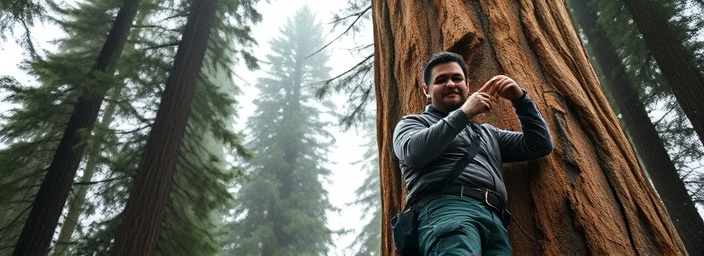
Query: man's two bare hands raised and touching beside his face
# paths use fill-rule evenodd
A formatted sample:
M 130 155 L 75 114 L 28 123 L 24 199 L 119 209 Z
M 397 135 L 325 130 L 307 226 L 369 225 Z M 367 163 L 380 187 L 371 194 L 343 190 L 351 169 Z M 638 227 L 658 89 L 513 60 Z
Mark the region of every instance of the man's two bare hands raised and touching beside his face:
M 494 100 L 498 97 L 515 100 L 523 97 L 523 89 L 516 81 L 508 76 L 498 75 L 492 77 L 482 88 L 467 98 L 460 109 L 472 119 L 475 116 L 489 112 Z

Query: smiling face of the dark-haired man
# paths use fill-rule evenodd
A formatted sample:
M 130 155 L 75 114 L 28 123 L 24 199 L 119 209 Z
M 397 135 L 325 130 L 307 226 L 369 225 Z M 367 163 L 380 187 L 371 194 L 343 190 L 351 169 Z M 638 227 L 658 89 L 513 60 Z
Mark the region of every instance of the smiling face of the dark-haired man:
M 424 86 L 423 92 L 430 97 L 430 104 L 439 110 L 449 113 L 467 100 L 469 88 L 457 62 L 436 65 L 430 71 L 430 78 L 432 85 Z

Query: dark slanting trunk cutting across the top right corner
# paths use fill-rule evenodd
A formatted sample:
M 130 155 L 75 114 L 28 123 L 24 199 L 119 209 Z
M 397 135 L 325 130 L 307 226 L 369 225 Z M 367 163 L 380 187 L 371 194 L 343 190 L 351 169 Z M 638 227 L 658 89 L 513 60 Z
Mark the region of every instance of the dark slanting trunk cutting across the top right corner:
M 682 42 L 667 27 L 667 20 L 653 0 L 624 0 L 633 22 L 643 34 L 645 44 L 667 79 L 677 102 L 704 143 L 704 76 Z

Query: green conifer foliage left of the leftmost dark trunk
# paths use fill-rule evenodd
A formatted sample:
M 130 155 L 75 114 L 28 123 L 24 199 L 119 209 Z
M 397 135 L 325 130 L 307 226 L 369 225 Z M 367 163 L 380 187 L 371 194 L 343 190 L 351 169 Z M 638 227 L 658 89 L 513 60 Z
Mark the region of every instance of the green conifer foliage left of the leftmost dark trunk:
M 117 4 L 117 1 L 106 1 L 100 6 L 83 5 L 86 18 L 92 19 L 84 21 L 109 20 L 105 17 L 104 9 L 116 8 Z M 37 77 L 39 86 L 12 82 L 14 80 L 10 78 L 4 80 L 3 89 L 9 93 L 6 101 L 17 107 L 3 115 L 5 124 L 0 130 L 3 143 L 8 145 L 0 151 L 0 173 L 3 174 L 0 177 L 0 200 L 7 200 L 2 202 L 8 206 L 3 207 L 3 211 L 6 211 L 3 214 L 9 214 L 8 218 L 2 218 L 7 223 L 2 225 L 4 230 L 0 233 L 0 240 L 3 246 L 0 251 L 11 250 L 12 244 L 17 241 L 38 186 L 54 157 L 54 151 L 73 110 L 78 91 L 76 85 L 89 83 L 85 74 L 97 58 L 103 43 L 98 39 L 83 44 L 77 41 L 86 36 L 86 33 L 106 34 L 110 22 L 105 23 L 105 26 L 96 26 L 90 32 L 76 31 L 65 26 L 67 33 L 76 37 L 62 41 L 59 51 L 48 53 L 45 60 L 34 58 L 25 66 L 28 73 Z M 72 23 L 67 23 L 70 24 Z M 74 48 L 70 48 L 71 44 Z M 103 82 L 111 83 L 109 78 Z

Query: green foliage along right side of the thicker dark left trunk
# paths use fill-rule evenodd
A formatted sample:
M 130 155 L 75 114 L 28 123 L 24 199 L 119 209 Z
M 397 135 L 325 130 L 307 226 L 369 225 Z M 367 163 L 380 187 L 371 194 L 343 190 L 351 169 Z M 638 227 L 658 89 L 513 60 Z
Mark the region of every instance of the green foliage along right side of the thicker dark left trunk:
M 228 188 L 242 167 L 226 157 L 247 159 L 243 136 L 233 131 L 240 93 L 232 66 L 256 68 L 250 25 L 261 20 L 257 1 L 220 1 L 201 75 L 196 82 L 170 203 L 162 222 L 159 255 L 213 255 L 221 251 L 220 218 L 233 200 Z M 233 43 L 235 41 L 235 43 Z M 223 54 L 224 53 L 224 54 Z M 240 160 L 241 161 L 241 160 Z

